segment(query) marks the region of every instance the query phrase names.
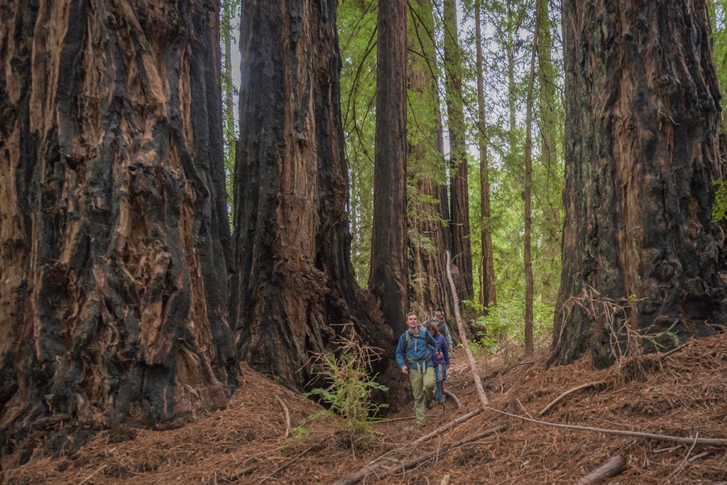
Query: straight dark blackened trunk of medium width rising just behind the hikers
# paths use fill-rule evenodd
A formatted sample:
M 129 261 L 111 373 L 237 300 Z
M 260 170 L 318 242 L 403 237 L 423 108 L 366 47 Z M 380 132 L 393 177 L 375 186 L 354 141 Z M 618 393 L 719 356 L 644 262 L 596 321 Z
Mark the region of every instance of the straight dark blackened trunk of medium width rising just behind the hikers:
M 398 336 L 409 302 L 406 261 L 406 1 L 379 0 L 374 223 L 369 289 Z

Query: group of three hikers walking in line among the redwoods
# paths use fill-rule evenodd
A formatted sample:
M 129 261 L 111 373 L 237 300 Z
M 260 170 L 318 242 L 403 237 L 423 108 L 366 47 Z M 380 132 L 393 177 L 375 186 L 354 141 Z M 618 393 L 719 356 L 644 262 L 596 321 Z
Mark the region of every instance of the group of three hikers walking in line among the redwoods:
M 434 402 L 444 404 L 443 383 L 447 380 L 451 334 L 441 310 L 423 324 L 419 324 L 416 312 L 409 312 L 406 327 L 396 346 L 396 361 L 401 372 L 409 375 L 417 425 L 424 426 L 427 409 Z

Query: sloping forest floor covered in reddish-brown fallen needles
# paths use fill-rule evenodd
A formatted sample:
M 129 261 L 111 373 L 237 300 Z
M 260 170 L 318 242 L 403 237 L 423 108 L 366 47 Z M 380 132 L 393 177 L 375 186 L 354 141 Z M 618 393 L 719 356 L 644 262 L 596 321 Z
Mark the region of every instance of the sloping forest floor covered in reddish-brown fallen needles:
M 625 468 L 606 483 L 727 483 L 724 444 L 554 428 L 497 412 L 611 430 L 727 438 L 727 334 L 692 340 L 661 356 L 624 358 L 603 370 L 590 358 L 546 369 L 545 348 L 532 361 L 514 354 L 478 356 L 490 408 L 422 444 L 412 442 L 482 409 L 462 350 L 454 352 L 447 382 L 462 407 L 451 400 L 435 406 L 427 427 L 419 429 L 406 406 L 373 425 L 374 439 L 365 449 L 352 452 L 340 422 L 329 414 L 308 420 L 322 409 L 313 401 L 243 366 L 244 385 L 225 410 L 174 430 L 138 429 L 126 437 L 103 431 L 67 456 L 36 456 L 4 470 L 4 481 L 331 484 L 374 462 L 374 473 L 363 483 L 573 484 L 620 454 Z M 555 398 L 581 385 L 586 387 L 540 415 Z M 457 444 L 499 426 L 505 429 Z M 407 466 L 412 461 L 416 464 Z

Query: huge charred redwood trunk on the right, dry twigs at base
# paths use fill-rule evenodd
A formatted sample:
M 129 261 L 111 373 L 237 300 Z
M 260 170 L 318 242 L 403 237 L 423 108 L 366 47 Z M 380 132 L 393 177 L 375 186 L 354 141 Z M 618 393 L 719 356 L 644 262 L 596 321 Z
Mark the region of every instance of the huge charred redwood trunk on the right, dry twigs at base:
M 563 2 L 566 220 L 551 361 L 712 334 L 726 316 L 720 92 L 704 1 Z M 580 298 L 580 304 L 576 304 Z

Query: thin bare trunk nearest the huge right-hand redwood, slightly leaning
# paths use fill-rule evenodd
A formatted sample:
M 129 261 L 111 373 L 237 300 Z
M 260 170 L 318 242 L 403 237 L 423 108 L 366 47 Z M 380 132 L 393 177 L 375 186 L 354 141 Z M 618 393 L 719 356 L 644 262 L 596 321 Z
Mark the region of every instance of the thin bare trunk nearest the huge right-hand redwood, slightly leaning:
M 532 214 L 530 208 L 533 179 L 533 85 L 535 84 L 535 55 L 538 49 L 540 32 L 540 1 L 535 2 L 535 28 L 533 49 L 530 56 L 530 77 L 525 110 L 525 241 L 523 262 L 525 265 L 525 355 L 533 355 L 533 265 L 531 261 L 530 239 Z

